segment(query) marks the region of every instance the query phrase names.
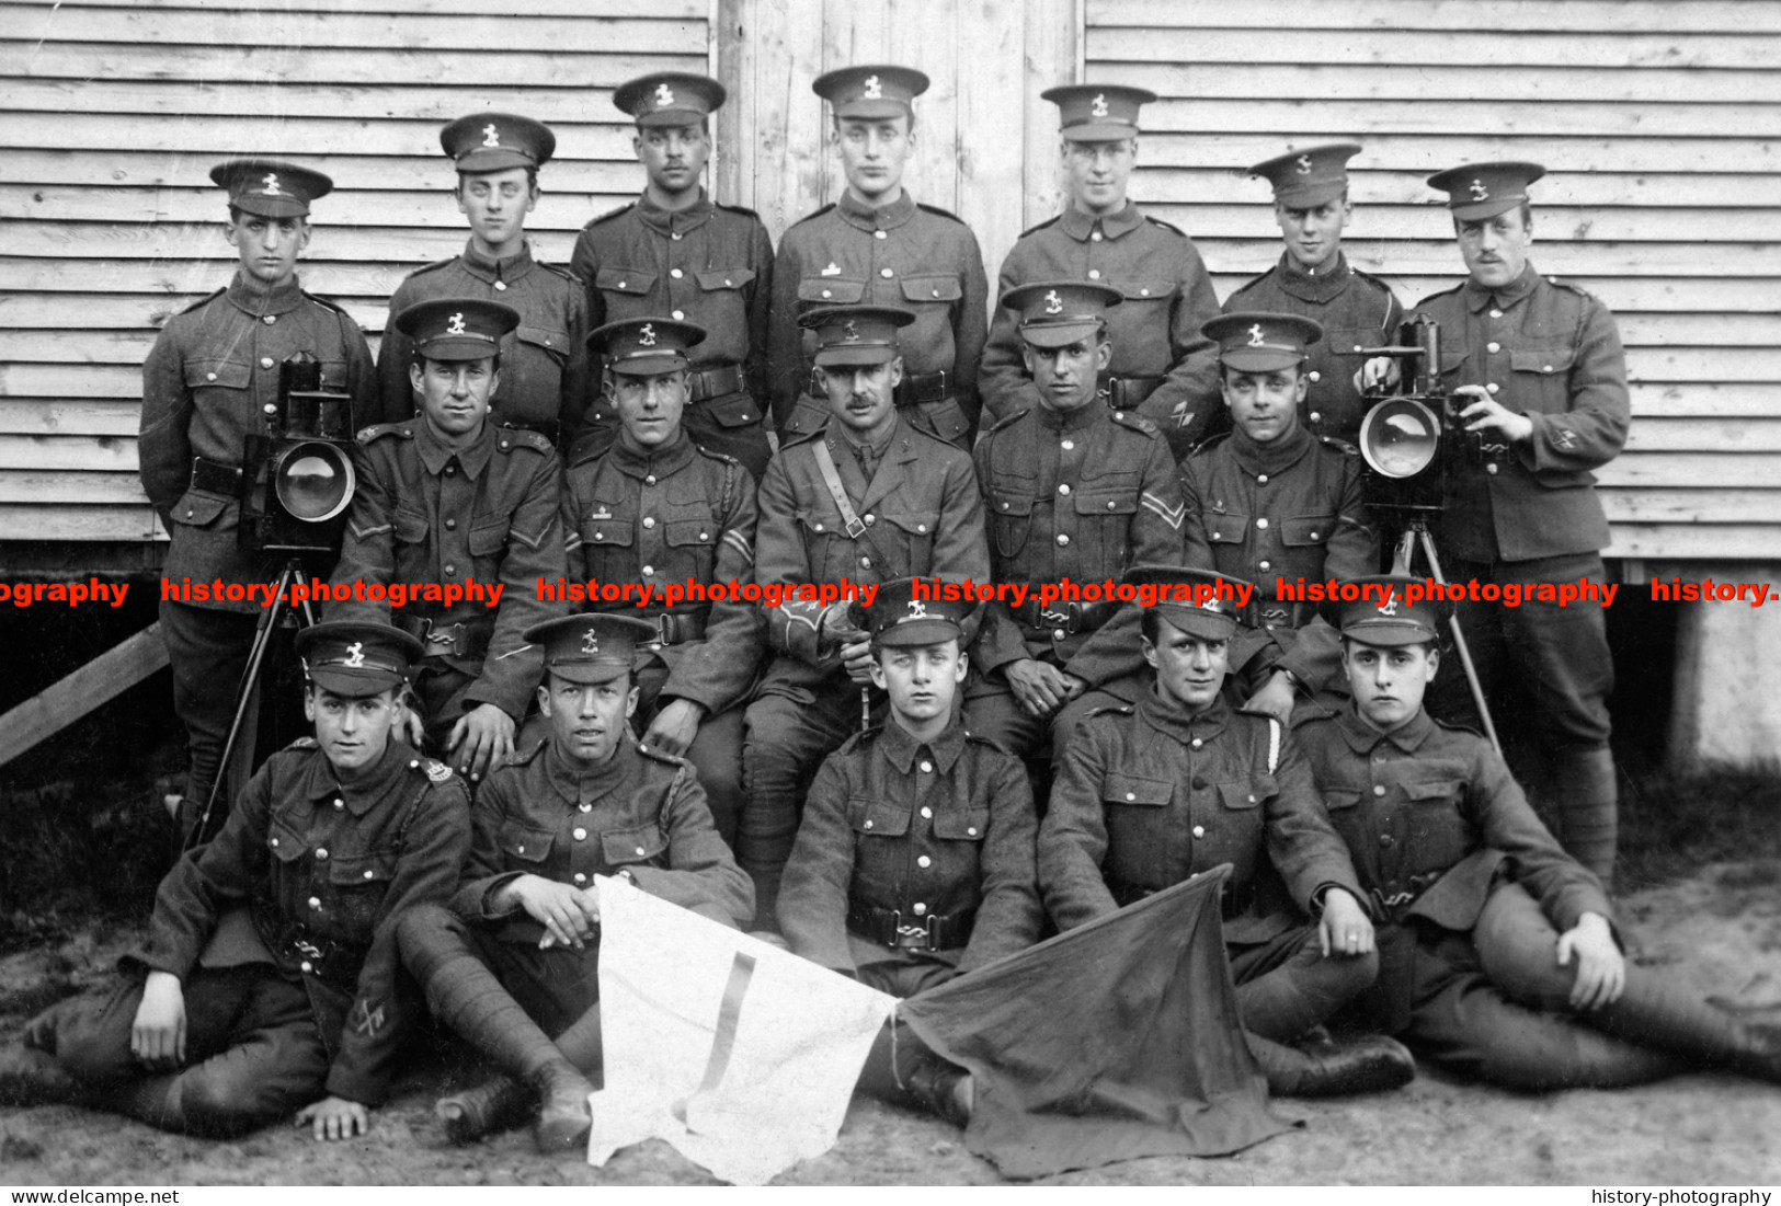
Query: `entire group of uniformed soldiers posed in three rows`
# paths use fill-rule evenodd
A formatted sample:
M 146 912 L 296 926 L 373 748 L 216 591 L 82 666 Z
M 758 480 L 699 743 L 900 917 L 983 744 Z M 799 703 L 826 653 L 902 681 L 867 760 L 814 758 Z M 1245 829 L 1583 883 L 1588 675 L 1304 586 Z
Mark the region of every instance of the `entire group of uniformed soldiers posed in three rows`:
M 212 173 L 240 270 L 144 366 L 142 482 L 169 578 L 272 580 L 235 537 L 242 441 L 294 352 L 351 395 L 338 601 L 299 635 L 315 736 L 251 783 L 223 768 L 256 607 L 162 603 L 187 799 L 230 776 L 228 820 L 164 882 L 135 975 L 34 1021 L 0 1096 L 208 1133 L 301 1106 L 317 1137 L 358 1133 L 420 1012 L 411 977 L 504 1073 L 440 1103 L 447 1131 L 533 1117 L 556 1149 L 586 1135 L 602 1060 L 597 875 L 908 996 L 1225 863 L 1241 1025 L 1277 1092 L 1403 1083 L 1389 1035 L 1525 1087 L 1781 1076 L 1781 1035 L 1621 955 L 1599 608 L 1460 605 L 1482 694 L 1544 754 L 1542 820 L 1460 726 L 1443 617 L 1377 576 L 1354 441 L 1398 384 L 1368 349 L 1403 311 L 1341 253 L 1361 148 L 1254 167 L 1286 247 L 1222 313 L 1191 240 L 1127 197 L 1154 96 L 1051 89 L 1069 205 L 990 306 L 969 228 L 901 180 L 924 87 L 892 66 L 814 82 L 846 190 L 775 254 L 700 183 L 723 87 L 632 80 L 614 103 L 643 194 L 568 270 L 525 244 L 549 128 L 452 121 L 470 242 L 399 286 L 376 365 L 296 279 L 331 181 Z M 1418 308 L 1444 331 L 1427 370 L 1496 450 L 1448 475 L 1460 580 L 1603 576 L 1590 470 L 1626 438 L 1624 363 L 1601 302 L 1528 263 L 1541 174 L 1430 178 L 1468 277 Z M 1282 580 L 1377 591 L 1320 610 Z M 1061 582 L 1081 589 L 1042 601 Z M 354 591 L 392 583 L 502 591 Z M 581 610 L 557 583 L 629 591 Z M 737 589 L 757 583 L 873 591 L 764 605 Z M 901 1028 L 862 1087 L 972 1108 L 971 1076 Z

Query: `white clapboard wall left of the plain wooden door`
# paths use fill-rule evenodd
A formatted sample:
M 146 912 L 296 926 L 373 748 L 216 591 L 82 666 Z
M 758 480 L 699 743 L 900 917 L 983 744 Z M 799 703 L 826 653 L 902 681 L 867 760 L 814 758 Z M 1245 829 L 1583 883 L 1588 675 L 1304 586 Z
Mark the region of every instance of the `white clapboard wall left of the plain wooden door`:
M 440 125 L 477 109 L 550 123 L 557 158 L 527 226 L 541 258 L 568 263 L 575 231 L 639 187 L 611 89 L 643 71 L 709 73 L 709 9 L 0 5 L 0 541 L 164 537 L 135 475 L 141 363 L 167 315 L 233 270 L 212 164 L 267 153 L 333 176 L 303 285 L 376 343 L 401 277 L 467 237 Z

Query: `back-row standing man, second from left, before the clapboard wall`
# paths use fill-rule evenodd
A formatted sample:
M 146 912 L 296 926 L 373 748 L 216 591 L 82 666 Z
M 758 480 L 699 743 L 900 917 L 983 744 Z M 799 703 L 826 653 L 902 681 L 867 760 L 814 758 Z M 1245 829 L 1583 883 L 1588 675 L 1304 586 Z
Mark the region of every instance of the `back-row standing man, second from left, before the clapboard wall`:
M 458 212 L 470 219 L 470 242 L 463 254 L 429 263 L 395 286 L 378 352 L 383 409 L 370 422 L 415 416 L 408 381 L 413 349 L 395 317 L 435 297 L 481 297 L 520 311 L 518 329 L 500 338 L 500 390 L 488 400 L 490 420 L 529 427 L 568 448 L 590 398 L 586 301 L 568 270 L 533 260 L 525 244 L 538 169 L 550 162 L 556 135 L 531 117 L 470 114 L 440 130 L 440 146 L 458 165 Z

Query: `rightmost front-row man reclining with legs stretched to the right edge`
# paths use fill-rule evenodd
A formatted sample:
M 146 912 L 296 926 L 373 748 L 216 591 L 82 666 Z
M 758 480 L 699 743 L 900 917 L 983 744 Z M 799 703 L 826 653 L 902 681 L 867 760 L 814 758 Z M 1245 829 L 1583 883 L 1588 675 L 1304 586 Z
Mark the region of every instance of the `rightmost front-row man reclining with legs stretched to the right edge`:
M 1418 582 L 1361 580 L 1378 592 L 1339 608 L 1354 703 L 1297 729 L 1380 913 L 1378 982 L 1354 1012 L 1514 1089 L 1633 1085 L 1694 1064 L 1781 1081 L 1781 1026 L 1628 962 L 1601 882 L 1503 760 L 1423 710 L 1441 655 L 1435 605 L 1405 596 Z

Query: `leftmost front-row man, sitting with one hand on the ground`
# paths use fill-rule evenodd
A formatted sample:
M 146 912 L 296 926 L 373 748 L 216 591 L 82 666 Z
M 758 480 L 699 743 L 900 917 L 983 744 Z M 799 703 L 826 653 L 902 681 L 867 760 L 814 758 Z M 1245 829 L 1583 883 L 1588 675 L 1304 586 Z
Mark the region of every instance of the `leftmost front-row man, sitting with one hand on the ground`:
M 128 980 L 37 1016 L 0 1057 L 0 1103 L 219 1137 L 292 1110 L 315 1138 L 370 1128 L 420 1014 L 399 991 L 395 921 L 451 893 L 470 797 L 401 740 L 419 640 L 315 624 L 296 644 L 315 738 L 272 754 L 223 832 L 160 880 Z

